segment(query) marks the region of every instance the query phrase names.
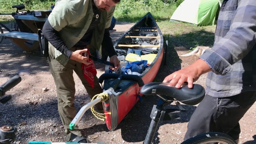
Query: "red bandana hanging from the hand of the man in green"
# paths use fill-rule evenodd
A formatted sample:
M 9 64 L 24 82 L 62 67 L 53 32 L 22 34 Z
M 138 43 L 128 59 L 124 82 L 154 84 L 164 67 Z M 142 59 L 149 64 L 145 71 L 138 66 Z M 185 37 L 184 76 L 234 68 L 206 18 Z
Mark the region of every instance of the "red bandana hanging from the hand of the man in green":
M 90 55 L 89 50 L 87 50 L 87 53 Z M 91 58 L 87 60 L 87 62 L 90 62 L 90 61 L 92 61 L 92 63 L 89 65 L 82 64 L 81 69 L 84 71 L 83 72 L 84 78 L 88 81 L 90 86 L 94 88 L 94 76 L 97 74 L 97 71 L 94 66 L 93 60 Z

